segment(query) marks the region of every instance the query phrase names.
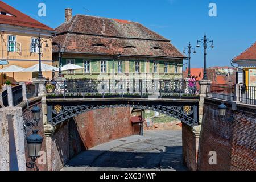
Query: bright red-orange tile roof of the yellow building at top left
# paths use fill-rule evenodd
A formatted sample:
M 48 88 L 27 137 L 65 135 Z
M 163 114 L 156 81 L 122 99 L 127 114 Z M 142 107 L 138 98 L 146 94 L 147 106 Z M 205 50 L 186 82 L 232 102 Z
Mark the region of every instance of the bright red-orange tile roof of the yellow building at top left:
M 43 23 L 38 22 L 33 18 L 30 18 L 30 16 L 23 14 L 22 12 L 14 9 L 13 7 L 7 5 L 2 1 L 0 1 L 0 7 L 0 11 L 4 11 L 6 13 L 13 15 L 9 16 L 0 14 L 0 24 L 10 24 L 14 26 L 22 26 L 53 31 L 52 28 L 44 25 Z

